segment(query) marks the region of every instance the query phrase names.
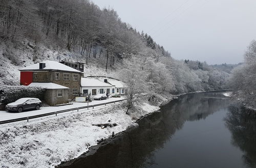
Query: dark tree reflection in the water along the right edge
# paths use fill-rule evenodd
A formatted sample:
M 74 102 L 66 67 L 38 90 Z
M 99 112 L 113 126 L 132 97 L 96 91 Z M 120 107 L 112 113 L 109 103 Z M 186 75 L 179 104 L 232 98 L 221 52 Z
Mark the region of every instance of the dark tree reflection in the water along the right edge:
M 243 152 L 247 167 L 256 167 L 256 113 L 253 110 L 231 106 L 225 118 L 232 133 L 232 144 Z

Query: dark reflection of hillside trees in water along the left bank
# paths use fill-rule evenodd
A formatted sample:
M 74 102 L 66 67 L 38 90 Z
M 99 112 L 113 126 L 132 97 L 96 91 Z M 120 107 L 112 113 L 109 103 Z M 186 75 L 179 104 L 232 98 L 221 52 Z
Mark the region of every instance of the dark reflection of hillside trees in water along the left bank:
M 190 94 L 161 107 L 138 122 L 139 126 L 117 136 L 94 155 L 73 160 L 71 167 L 148 167 L 155 163 L 155 151 L 170 141 L 176 130 L 187 120 L 205 119 L 209 114 L 227 106 L 227 100 L 207 94 Z

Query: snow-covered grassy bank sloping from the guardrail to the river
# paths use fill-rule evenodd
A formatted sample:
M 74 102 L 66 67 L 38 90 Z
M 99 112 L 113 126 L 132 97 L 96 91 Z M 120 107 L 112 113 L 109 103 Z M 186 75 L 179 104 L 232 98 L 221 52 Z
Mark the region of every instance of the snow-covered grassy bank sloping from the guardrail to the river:
M 113 132 L 137 125 L 133 119 L 157 109 L 159 107 L 142 103 L 136 114 L 129 116 L 125 114 L 122 103 L 119 103 L 29 123 L 22 121 L 1 125 L 0 167 L 53 167 L 60 161 L 70 160 L 88 151 L 101 138 L 108 138 Z M 116 123 L 117 126 L 102 129 L 92 125 L 99 123 Z

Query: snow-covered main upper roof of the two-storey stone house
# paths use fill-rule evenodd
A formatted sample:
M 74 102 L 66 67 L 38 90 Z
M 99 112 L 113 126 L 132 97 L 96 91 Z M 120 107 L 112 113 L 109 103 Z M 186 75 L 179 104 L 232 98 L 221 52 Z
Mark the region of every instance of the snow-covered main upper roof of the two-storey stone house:
M 50 60 L 46 60 L 40 63 L 45 63 L 46 67 L 43 69 L 39 69 L 39 63 L 37 64 L 33 64 L 30 66 L 27 66 L 25 68 L 19 69 L 20 71 L 28 71 L 28 70 L 60 70 L 60 71 L 69 71 L 69 72 L 79 72 L 82 73 L 81 71 L 78 71 L 74 68 L 71 68 L 67 65 L 61 64 L 59 62 L 56 61 L 50 61 Z

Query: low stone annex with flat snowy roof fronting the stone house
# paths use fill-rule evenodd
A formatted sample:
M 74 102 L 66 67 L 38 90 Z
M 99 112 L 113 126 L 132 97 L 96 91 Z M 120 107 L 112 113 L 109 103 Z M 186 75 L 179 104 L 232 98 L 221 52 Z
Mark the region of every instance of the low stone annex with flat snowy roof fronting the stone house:
M 45 88 L 45 101 L 50 106 L 68 103 L 68 87 L 61 86 L 52 82 L 32 82 L 29 86 Z

